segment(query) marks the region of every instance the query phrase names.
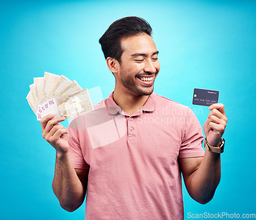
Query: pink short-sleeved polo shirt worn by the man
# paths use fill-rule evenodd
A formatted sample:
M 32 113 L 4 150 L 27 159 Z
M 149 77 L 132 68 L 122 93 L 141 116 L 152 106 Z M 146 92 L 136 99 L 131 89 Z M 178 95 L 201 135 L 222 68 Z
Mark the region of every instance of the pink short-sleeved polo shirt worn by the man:
M 68 127 L 75 168 L 89 169 L 86 219 L 183 219 L 178 158 L 202 157 L 190 108 L 150 95 L 132 116 L 113 93 Z

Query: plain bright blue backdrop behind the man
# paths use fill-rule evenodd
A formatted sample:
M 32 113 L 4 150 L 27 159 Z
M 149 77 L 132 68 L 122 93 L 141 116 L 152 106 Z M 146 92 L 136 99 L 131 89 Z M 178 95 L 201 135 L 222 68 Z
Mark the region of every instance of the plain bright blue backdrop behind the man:
M 7 1 L 6 1 L 7 2 Z M 184 192 L 187 213 L 256 213 L 253 1 L 8 1 L 0 4 L 1 153 L 0 219 L 84 219 L 84 204 L 69 213 L 58 204 L 52 179 L 55 149 L 26 96 L 44 72 L 100 86 L 106 98 L 115 79 L 98 39 L 121 17 L 135 15 L 153 28 L 160 73 L 155 92 L 190 106 L 203 125 L 194 88 L 220 91 L 228 124 L 222 179 L 214 199 L 200 205 Z

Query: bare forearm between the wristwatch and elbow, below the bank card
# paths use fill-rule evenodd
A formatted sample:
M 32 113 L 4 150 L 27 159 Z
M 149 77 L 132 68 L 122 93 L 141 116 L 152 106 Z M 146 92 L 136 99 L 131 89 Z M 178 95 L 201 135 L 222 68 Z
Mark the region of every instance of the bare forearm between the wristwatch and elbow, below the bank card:
M 221 179 L 220 153 L 206 150 L 200 166 L 189 179 L 187 188 L 190 196 L 202 204 L 209 202 Z

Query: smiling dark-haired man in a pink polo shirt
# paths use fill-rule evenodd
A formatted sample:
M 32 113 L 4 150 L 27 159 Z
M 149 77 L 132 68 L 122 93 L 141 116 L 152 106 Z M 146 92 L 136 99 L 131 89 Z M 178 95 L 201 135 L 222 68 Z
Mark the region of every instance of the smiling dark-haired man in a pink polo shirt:
M 151 33 L 142 18 L 115 21 L 99 40 L 114 92 L 68 130 L 59 124 L 65 118 L 41 119 L 42 137 L 57 151 L 54 193 L 61 207 L 74 211 L 87 192 L 86 219 L 183 219 L 181 172 L 202 204 L 219 184 L 220 153 L 212 149 L 222 145 L 224 105 L 209 107 L 204 152 L 193 112 L 153 93 L 160 64 Z

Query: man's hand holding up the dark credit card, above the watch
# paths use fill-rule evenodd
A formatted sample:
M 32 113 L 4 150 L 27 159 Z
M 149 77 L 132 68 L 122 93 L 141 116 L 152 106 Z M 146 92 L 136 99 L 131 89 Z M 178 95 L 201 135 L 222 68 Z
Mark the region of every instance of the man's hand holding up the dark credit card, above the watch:
M 209 106 L 209 110 L 208 119 L 203 126 L 204 134 L 211 146 L 219 146 L 227 124 L 224 105 L 221 103 L 212 104 Z

